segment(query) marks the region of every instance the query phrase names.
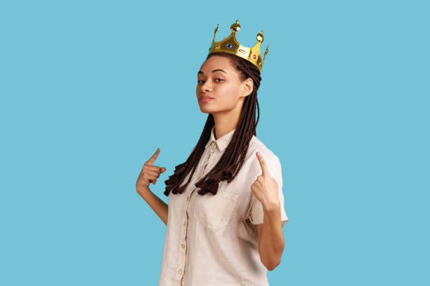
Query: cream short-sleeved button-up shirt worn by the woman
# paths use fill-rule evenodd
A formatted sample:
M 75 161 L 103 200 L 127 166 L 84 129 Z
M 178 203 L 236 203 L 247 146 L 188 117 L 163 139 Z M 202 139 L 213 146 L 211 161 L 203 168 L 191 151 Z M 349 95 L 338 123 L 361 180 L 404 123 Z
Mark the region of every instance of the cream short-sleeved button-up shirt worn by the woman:
M 187 188 L 181 194 L 169 193 L 159 286 L 268 285 L 256 229 L 256 224 L 263 224 L 263 206 L 251 185 L 261 175 L 258 151 L 279 186 L 281 221 L 288 221 L 278 157 L 253 135 L 245 162 L 232 182 L 219 182 L 216 195 L 202 196 L 196 191 L 195 182 L 214 168 L 234 132 L 215 139 L 212 128 Z

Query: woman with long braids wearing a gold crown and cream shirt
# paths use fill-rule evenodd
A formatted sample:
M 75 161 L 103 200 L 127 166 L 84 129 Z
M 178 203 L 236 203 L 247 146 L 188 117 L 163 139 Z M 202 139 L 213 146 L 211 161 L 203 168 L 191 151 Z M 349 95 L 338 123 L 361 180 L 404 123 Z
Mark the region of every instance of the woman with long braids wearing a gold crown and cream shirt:
M 197 100 L 209 115 L 187 161 L 165 181 L 169 207 L 149 189 L 166 170 L 154 165 L 159 149 L 136 182 L 167 224 L 162 286 L 268 285 L 267 270 L 280 264 L 288 220 L 281 166 L 256 137 L 263 31 L 248 48 L 250 57 L 242 57 L 239 50 L 247 47 L 234 46 L 239 29 L 236 21 L 228 38 L 212 41 L 197 73 Z

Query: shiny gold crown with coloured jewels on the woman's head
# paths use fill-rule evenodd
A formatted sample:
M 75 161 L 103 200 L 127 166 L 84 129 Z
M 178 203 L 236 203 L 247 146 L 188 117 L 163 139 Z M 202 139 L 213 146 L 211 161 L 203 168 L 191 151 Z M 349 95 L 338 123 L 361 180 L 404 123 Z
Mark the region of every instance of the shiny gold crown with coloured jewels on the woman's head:
M 219 24 L 216 25 L 215 32 L 214 32 L 214 39 L 212 40 L 211 47 L 209 48 L 209 54 L 210 53 L 216 53 L 216 52 L 223 52 L 223 53 L 230 53 L 233 55 L 238 55 L 239 57 L 244 58 L 245 60 L 252 62 L 254 66 L 258 67 L 260 73 L 261 68 L 263 67 L 264 60 L 266 59 L 266 55 L 268 53 L 268 45 L 266 48 L 266 52 L 264 53 L 264 57 L 261 58 L 260 53 L 260 45 L 263 43 L 263 30 L 259 32 L 256 36 L 256 44 L 253 47 L 245 47 L 242 46 L 236 39 L 236 32 L 240 30 L 239 20 L 236 20 L 235 23 L 233 23 L 230 26 L 231 33 L 230 36 L 227 38 L 224 38 L 222 41 L 215 41 L 215 35 L 216 31 L 218 30 Z

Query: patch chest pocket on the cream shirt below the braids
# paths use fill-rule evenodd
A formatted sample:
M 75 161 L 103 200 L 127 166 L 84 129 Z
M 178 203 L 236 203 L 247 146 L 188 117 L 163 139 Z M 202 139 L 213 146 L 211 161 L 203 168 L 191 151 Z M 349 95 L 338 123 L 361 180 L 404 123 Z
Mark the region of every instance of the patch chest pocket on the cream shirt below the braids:
M 233 214 L 239 193 L 226 189 L 227 182 L 220 182 L 216 195 L 207 193 L 204 196 L 196 191 L 193 205 L 194 217 L 209 231 L 223 229 Z

